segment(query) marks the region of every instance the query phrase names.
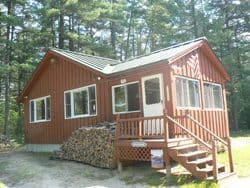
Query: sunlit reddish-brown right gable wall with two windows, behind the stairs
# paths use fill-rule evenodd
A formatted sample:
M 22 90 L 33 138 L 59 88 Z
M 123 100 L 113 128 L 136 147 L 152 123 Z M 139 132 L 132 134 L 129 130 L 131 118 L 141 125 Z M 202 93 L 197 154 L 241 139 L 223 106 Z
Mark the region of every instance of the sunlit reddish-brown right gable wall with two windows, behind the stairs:
M 228 117 L 227 117 L 227 104 L 226 104 L 226 96 L 225 96 L 225 80 L 221 73 L 216 69 L 215 65 L 209 61 L 209 58 L 202 50 L 198 50 L 198 57 L 199 57 L 199 65 L 200 65 L 200 72 L 201 76 L 199 78 L 194 76 L 193 69 L 186 63 L 190 58 L 191 54 L 188 54 L 176 62 L 174 62 L 171 66 L 172 72 L 172 101 L 173 101 L 173 116 L 177 119 L 182 125 L 185 125 L 188 129 L 197 132 L 197 134 L 205 139 L 209 140 L 207 134 L 204 134 L 203 131 L 195 126 L 191 120 L 187 118 L 183 118 L 186 112 L 190 113 L 196 120 L 201 122 L 204 126 L 209 128 L 211 131 L 216 133 L 218 136 L 225 138 L 229 136 L 228 130 Z M 200 81 L 200 88 L 201 88 L 201 99 L 202 99 L 202 107 L 201 109 L 180 109 L 176 107 L 176 89 L 175 89 L 175 76 L 185 76 L 189 78 L 198 79 Z M 223 94 L 223 103 L 224 109 L 223 110 L 211 110 L 206 109 L 204 105 L 204 93 L 203 93 L 203 82 L 213 82 L 222 85 L 222 94 Z M 178 137 L 181 134 L 181 130 L 176 128 L 170 130 L 172 136 Z

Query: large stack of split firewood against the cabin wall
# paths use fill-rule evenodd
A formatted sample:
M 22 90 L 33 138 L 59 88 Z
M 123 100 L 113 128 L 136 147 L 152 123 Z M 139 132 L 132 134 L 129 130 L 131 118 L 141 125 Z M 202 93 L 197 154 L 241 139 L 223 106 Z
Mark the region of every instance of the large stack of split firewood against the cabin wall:
M 73 160 L 101 168 L 115 168 L 115 123 L 104 122 L 74 131 L 52 158 Z

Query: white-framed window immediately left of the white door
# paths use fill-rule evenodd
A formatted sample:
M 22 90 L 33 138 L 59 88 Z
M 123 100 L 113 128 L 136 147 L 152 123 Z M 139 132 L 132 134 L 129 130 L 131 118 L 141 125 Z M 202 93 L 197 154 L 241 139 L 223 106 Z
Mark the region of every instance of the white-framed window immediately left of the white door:
M 133 112 L 140 109 L 139 84 L 130 83 L 113 87 L 113 112 Z

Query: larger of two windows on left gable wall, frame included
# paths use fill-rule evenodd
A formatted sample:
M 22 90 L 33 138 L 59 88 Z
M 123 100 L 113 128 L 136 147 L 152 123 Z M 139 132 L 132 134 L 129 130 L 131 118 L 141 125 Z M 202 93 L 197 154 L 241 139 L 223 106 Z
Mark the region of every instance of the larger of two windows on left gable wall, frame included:
M 64 93 L 65 118 L 96 115 L 96 86 L 91 85 Z

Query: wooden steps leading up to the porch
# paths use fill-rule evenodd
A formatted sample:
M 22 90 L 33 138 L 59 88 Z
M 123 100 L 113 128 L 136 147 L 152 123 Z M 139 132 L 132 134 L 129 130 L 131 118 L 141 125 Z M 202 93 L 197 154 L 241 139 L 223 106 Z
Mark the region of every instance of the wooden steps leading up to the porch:
M 190 171 L 194 176 L 204 180 L 214 180 L 212 157 L 209 156 L 208 151 L 200 149 L 199 144 L 195 143 L 193 140 L 183 145 L 170 147 L 168 149 L 168 155 Z M 217 169 L 217 180 L 232 175 L 232 173 L 226 172 L 225 165 L 223 164 L 217 164 Z

